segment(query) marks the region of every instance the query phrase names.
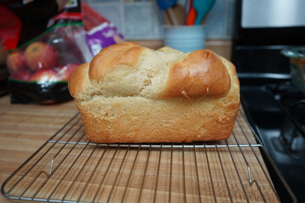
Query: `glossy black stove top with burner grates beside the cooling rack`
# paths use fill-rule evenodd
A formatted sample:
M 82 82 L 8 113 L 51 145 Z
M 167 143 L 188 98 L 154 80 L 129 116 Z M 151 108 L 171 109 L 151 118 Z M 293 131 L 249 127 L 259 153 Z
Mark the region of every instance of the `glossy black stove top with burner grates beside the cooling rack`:
M 305 94 L 291 82 L 242 85 L 241 100 L 250 124 L 297 201 L 305 202 Z M 269 172 L 281 200 L 291 201 Z

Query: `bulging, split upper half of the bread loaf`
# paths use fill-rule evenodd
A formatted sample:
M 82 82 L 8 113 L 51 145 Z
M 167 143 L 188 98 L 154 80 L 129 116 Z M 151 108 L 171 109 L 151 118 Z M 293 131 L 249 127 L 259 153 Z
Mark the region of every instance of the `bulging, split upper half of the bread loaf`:
M 88 101 L 95 95 L 151 99 L 221 97 L 230 90 L 231 79 L 239 86 L 235 68 L 226 66 L 234 67 L 210 50 L 183 53 L 162 47 L 154 51 L 124 42 L 102 49 L 91 63 L 77 67 L 70 75 L 68 87 L 77 102 Z

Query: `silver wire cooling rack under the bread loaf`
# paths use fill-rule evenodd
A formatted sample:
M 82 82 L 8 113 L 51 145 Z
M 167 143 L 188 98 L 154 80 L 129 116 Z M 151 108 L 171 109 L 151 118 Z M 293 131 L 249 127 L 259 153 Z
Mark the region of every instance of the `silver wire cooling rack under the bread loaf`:
M 93 143 L 76 114 L 5 180 L 1 193 L 66 203 L 278 202 L 259 149 L 271 161 L 241 111 L 227 140 L 141 144 Z

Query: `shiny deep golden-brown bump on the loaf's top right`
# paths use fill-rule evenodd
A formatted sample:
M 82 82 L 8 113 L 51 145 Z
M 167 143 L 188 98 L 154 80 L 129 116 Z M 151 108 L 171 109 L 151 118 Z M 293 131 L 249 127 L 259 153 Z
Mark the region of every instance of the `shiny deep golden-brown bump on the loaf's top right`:
M 231 86 L 230 75 L 221 59 L 210 50 L 196 50 L 171 66 L 163 98 L 223 96 Z

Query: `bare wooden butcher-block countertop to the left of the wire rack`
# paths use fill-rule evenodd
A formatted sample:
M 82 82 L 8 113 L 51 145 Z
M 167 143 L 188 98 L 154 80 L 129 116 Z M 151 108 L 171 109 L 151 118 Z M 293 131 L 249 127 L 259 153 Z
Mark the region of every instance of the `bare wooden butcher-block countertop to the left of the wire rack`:
M 55 105 L 10 104 L 0 98 L 0 183 L 77 113 L 73 100 Z M 20 202 L 1 195 L 0 202 Z M 21 201 L 33 202 L 33 201 Z

